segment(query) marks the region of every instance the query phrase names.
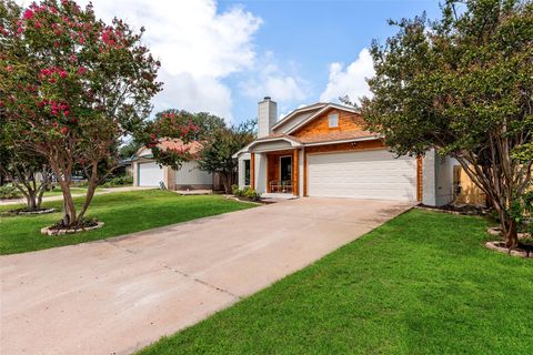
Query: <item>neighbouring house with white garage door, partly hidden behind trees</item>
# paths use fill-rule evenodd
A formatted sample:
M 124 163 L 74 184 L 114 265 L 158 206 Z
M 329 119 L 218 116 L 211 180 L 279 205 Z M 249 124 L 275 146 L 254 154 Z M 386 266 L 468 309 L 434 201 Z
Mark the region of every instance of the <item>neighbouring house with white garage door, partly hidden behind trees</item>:
M 167 140 L 159 144 L 161 150 L 185 150 L 197 155 L 202 144 L 191 142 L 183 144 L 181 140 Z M 161 183 L 169 190 L 213 190 L 213 174 L 198 168 L 195 160 L 184 162 L 180 170 L 170 166 L 159 166 L 153 160 L 152 150 L 141 148 L 133 156 L 133 185 L 160 186 Z

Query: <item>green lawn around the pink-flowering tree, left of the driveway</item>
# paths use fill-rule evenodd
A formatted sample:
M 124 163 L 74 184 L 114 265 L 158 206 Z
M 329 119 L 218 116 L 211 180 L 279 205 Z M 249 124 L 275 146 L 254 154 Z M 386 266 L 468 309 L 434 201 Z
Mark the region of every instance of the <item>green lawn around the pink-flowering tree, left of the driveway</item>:
M 81 200 L 76 201 L 80 204 Z M 43 205 L 61 209 L 61 201 L 54 201 L 46 202 Z M 160 190 L 97 195 L 87 216 L 98 217 L 104 222 L 105 225 L 100 230 L 47 236 L 40 233 L 40 229 L 59 221 L 61 213 L 0 216 L 0 254 L 78 244 L 251 206 L 253 204 L 228 200 L 220 195 L 180 196 Z M 0 206 L 0 212 L 13 207 L 16 206 Z

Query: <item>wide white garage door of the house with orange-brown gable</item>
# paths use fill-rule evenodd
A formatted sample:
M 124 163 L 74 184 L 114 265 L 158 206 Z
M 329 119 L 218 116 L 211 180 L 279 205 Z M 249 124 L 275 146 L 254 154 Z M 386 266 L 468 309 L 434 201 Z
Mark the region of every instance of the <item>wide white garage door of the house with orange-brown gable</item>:
M 416 159 L 386 150 L 308 155 L 309 195 L 416 200 Z

